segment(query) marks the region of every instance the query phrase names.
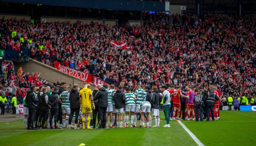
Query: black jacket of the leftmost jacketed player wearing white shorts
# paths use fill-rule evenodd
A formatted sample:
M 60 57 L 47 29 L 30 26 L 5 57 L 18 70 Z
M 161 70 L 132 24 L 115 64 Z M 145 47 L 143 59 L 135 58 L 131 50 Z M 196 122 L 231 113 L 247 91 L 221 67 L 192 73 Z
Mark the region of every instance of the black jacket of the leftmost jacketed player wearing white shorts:
M 123 108 L 125 105 L 125 94 L 121 89 L 117 89 L 112 99 L 115 101 L 115 108 Z

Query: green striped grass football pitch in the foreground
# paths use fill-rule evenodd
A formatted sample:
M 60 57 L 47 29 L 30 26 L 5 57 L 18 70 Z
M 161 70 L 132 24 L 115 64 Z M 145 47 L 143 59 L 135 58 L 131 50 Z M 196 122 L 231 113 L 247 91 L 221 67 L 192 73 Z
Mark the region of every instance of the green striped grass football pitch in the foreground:
M 170 128 L 165 125 L 164 113 L 160 111 L 159 128 L 111 128 L 111 129 L 39 129 L 25 130 L 19 120 L 0 122 L 0 145 L 256 145 L 256 112 L 220 111 L 220 120 L 214 122 L 180 121 L 193 136 L 171 120 Z M 20 120 L 23 120 L 21 118 Z M 130 123 L 129 123 L 130 124 Z M 140 121 L 137 120 L 137 125 Z M 154 122 L 152 121 L 152 126 Z M 193 137 L 193 138 L 192 138 Z M 197 142 L 198 142 L 197 141 Z

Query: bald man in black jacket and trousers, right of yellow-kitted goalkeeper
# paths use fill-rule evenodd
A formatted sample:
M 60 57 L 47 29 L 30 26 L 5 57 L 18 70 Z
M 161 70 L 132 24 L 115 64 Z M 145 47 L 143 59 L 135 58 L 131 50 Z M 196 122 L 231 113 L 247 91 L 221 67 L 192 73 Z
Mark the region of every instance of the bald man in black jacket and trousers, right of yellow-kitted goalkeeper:
M 100 118 L 100 127 L 99 128 L 105 128 L 106 127 L 106 112 L 108 107 L 108 91 L 101 86 L 101 84 L 97 84 L 96 87 L 99 89 L 99 91 L 96 93 L 93 100 L 98 100 L 98 106 L 99 106 L 99 118 Z

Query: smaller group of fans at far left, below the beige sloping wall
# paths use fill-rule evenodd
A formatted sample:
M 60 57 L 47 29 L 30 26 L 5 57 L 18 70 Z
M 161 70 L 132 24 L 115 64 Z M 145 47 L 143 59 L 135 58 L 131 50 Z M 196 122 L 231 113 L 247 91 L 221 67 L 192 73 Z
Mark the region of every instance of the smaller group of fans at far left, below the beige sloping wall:
M 31 85 L 44 85 L 52 86 L 52 83 L 46 81 L 43 78 L 39 78 L 40 73 L 29 74 L 29 72 L 23 72 L 22 67 L 15 69 L 12 61 L 1 62 L 1 84 L 0 84 L 0 96 L 6 97 L 4 108 L 7 113 L 11 110 L 11 100 L 12 97 L 17 98 L 17 104 L 23 104 L 22 99 L 27 94 L 27 90 L 30 89 Z M 53 85 L 60 86 L 59 82 L 54 81 Z M 2 104 L 2 103 L 1 103 Z

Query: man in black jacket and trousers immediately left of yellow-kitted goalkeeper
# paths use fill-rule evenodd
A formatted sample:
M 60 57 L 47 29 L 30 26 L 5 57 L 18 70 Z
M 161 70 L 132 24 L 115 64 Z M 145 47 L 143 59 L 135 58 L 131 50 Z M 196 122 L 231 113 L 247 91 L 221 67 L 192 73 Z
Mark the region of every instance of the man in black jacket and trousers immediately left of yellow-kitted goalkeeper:
M 69 102 L 70 102 L 70 116 L 68 117 L 68 129 L 71 129 L 71 122 L 72 118 L 75 115 L 75 128 L 77 128 L 77 122 L 78 122 L 78 115 L 80 111 L 80 98 L 79 98 L 79 91 L 78 85 L 74 84 L 74 87 L 71 89 L 71 92 L 69 92 Z

